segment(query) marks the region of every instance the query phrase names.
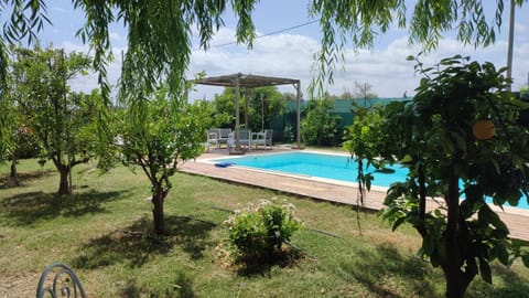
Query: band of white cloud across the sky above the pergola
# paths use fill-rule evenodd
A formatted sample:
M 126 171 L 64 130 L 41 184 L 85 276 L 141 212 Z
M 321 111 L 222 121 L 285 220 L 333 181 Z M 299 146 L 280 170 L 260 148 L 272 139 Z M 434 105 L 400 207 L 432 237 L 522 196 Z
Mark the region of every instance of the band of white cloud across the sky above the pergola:
M 292 77 L 300 78 L 302 86 L 306 88 L 312 79 L 314 53 L 319 49 L 320 43 L 307 36 L 270 35 L 256 40 L 252 50 L 229 45 L 212 49 L 207 53 L 194 52 L 190 73 L 205 71 L 207 75 L 213 76 L 242 72 Z M 381 97 L 399 97 L 404 92 L 412 95 L 420 76 L 414 73 L 414 62 L 409 62 L 406 57 L 417 55 L 419 51 L 419 46 L 409 46 L 407 36 L 375 51 L 347 50 L 344 63 L 338 63 L 334 71 L 334 85 L 327 86 L 328 92 L 339 95 L 346 89 L 353 89 L 354 82 L 368 82 L 374 86 L 374 92 Z M 475 49 L 472 45 L 463 45 L 455 39 L 443 39 L 438 50 L 422 55 L 420 60 L 425 66 L 433 66 L 441 58 L 461 54 L 481 63 L 493 62 L 499 68 L 506 64 L 506 53 L 507 43 L 501 40 L 492 46 Z M 529 43 L 516 46 L 512 72 L 515 89 L 517 84 L 521 84 L 518 82 L 526 82 L 529 62 L 526 62 L 525 57 L 528 55 Z M 344 71 L 341 71 L 342 67 Z M 206 95 L 208 98 L 213 98 L 214 93 L 223 92 L 222 88 L 204 91 L 198 87 L 198 89 L 196 93 L 198 97 Z M 304 93 L 306 94 L 306 91 Z

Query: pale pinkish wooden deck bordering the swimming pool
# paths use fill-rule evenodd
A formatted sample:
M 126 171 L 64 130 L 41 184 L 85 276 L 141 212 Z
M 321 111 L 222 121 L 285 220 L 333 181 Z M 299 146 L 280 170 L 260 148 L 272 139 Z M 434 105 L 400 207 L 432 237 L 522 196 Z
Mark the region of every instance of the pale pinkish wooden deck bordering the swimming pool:
M 252 150 L 251 155 L 290 151 L 288 148 L 273 150 Z M 218 168 L 209 159 L 227 157 L 227 149 L 212 149 L 195 161 L 187 161 L 180 166 L 180 170 L 187 173 L 206 175 L 218 180 L 230 181 L 247 185 L 272 189 L 290 194 L 306 196 L 315 200 L 334 203 L 357 205 L 358 189 L 354 183 L 337 183 L 310 177 L 294 177 L 270 173 L 259 170 L 241 169 L 236 166 Z M 385 190 L 375 188 L 367 193 L 364 207 L 378 211 L 384 207 Z M 429 204 L 433 207 L 435 203 Z M 505 207 L 504 211 L 494 206 L 501 220 L 510 230 L 514 238 L 529 241 L 529 211 Z

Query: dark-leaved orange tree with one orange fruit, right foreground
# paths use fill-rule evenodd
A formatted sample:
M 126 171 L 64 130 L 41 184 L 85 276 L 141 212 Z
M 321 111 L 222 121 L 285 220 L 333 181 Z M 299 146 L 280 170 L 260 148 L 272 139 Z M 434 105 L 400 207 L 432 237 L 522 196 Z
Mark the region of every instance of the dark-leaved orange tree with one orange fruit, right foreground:
M 375 157 L 409 168 L 407 181 L 390 187 L 382 217 L 393 228 L 403 222 L 415 227 L 420 254 L 444 273 L 446 297 L 463 297 L 477 274 L 490 283 L 492 260 L 509 265 L 521 255 L 529 266 L 528 243 L 510 240 L 486 203 L 516 205 L 527 196 L 529 131 L 518 125 L 527 105 L 507 92 L 505 68 L 467 62 L 455 56 L 424 70 L 418 63 L 424 78 L 414 98 L 388 105 L 385 121 L 366 124 L 377 134 L 354 148 L 380 168 Z M 435 196 L 446 212 L 427 212 L 427 198 Z

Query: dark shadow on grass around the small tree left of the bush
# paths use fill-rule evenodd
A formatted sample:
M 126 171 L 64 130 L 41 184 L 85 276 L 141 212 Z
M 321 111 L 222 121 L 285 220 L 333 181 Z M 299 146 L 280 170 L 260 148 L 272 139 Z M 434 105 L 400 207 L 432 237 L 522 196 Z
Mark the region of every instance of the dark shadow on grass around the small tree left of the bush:
M 171 253 L 175 246 L 191 258 L 198 259 L 207 246 L 214 245 L 207 242 L 207 237 L 215 224 L 191 217 L 166 216 L 165 227 L 166 235 L 153 235 L 151 219 L 142 217 L 128 227 L 86 243 L 72 264 L 87 269 L 118 263 L 139 267 L 152 255 Z

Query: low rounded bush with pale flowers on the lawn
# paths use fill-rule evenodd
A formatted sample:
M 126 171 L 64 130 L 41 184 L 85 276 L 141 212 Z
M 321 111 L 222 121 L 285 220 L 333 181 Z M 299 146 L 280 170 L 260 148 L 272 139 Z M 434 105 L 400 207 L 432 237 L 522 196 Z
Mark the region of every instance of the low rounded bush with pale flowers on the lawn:
M 302 227 L 294 216 L 294 205 L 276 199 L 249 203 L 226 222 L 229 243 L 237 259 L 272 260 L 282 253 L 282 244 Z

